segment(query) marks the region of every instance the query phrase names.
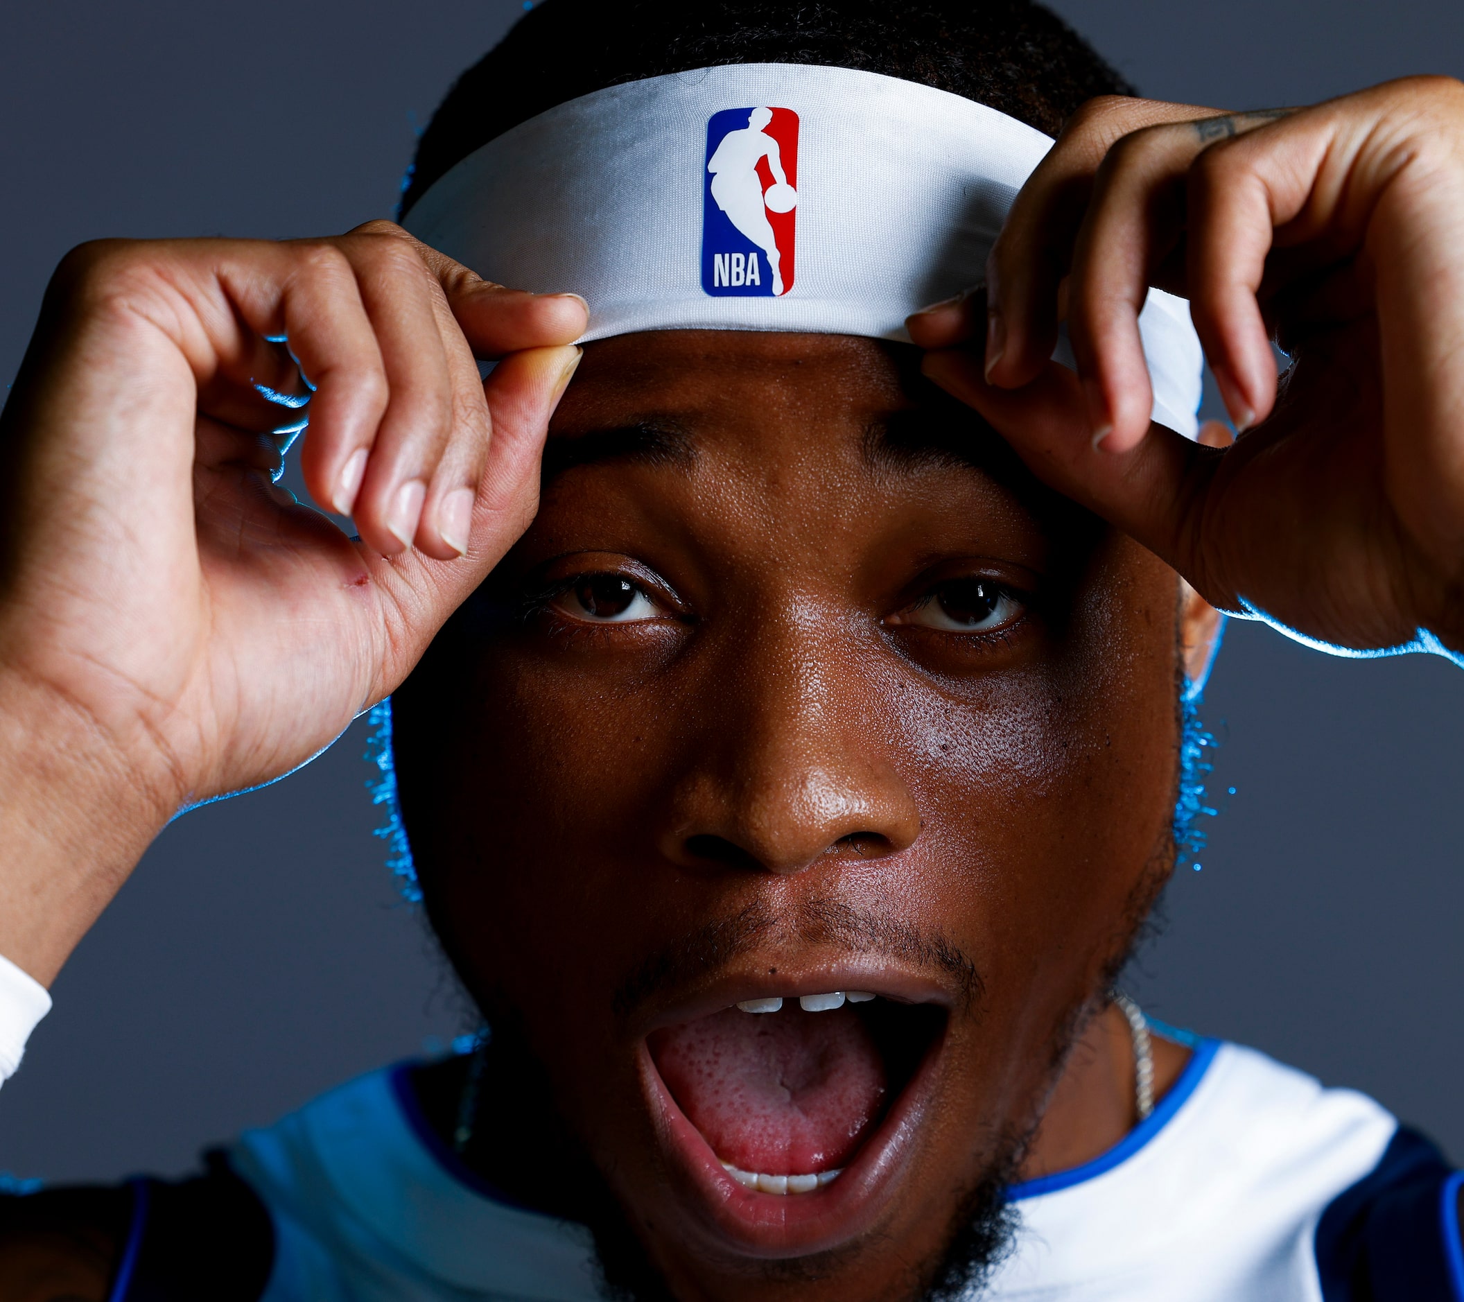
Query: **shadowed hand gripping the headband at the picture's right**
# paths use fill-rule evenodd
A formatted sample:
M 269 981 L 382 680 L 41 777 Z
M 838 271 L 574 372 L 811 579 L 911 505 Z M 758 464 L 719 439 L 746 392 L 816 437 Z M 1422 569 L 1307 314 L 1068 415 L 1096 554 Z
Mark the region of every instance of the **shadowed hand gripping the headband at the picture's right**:
M 1190 299 L 1228 450 L 1149 422 L 1149 286 Z M 1464 85 L 1094 101 L 1019 195 L 984 306 L 911 318 L 925 372 L 1217 606 L 1464 650 Z M 1064 316 L 1076 375 L 1050 360 Z

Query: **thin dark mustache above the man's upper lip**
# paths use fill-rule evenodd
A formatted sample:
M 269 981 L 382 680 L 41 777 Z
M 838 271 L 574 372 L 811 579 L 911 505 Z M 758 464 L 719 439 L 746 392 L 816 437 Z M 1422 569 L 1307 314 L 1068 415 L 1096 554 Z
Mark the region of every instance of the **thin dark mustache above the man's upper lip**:
M 971 956 L 940 931 L 856 908 L 842 899 L 814 898 L 792 912 L 755 901 L 738 912 L 714 918 L 651 953 L 615 989 L 610 1005 L 625 1016 L 644 1000 L 678 990 L 707 971 L 752 953 L 769 939 L 834 945 L 858 955 L 883 955 L 906 967 L 953 978 L 965 1006 L 985 992 Z

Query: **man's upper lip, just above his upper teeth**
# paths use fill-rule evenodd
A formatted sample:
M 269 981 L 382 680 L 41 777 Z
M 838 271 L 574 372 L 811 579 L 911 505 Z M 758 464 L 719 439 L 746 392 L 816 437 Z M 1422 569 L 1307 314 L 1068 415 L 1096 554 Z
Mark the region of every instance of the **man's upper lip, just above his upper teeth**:
M 776 971 L 769 971 L 769 965 Z M 739 965 L 738 970 L 717 972 L 698 981 L 691 992 L 649 1000 L 632 1016 L 634 1031 L 644 1037 L 662 1027 L 692 1022 L 748 999 L 798 999 L 830 990 L 867 990 L 897 1003 L 934 1003 L 947 1011 L 959 999 L 950 986 L 934 980 L 930 972 L 903 968 L 886 958 L 807 965 L 773 964 L 770 959 L 755 970 Z

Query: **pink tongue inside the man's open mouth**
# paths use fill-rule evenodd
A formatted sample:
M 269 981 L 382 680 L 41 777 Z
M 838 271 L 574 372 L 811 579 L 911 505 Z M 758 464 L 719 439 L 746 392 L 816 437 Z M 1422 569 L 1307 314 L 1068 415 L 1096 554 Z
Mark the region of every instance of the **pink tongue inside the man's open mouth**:
M 884 1100 L 884 1063 L 845 1005 L 725 1009 L 650 1038 L 666 1088 L 723 1161 L 761 1175 L 842 1167 Z

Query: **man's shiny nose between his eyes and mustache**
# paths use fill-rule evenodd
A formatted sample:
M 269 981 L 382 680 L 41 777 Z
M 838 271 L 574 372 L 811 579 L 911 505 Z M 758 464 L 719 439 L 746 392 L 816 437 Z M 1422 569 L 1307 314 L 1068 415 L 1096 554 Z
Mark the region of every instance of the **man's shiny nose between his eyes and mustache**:
M 867 647 L 788 618 L 709 665 L 662 851 L 685 867 L 789 876 L 830 854 L 897 854 L 919 835 L 892 763 Z

